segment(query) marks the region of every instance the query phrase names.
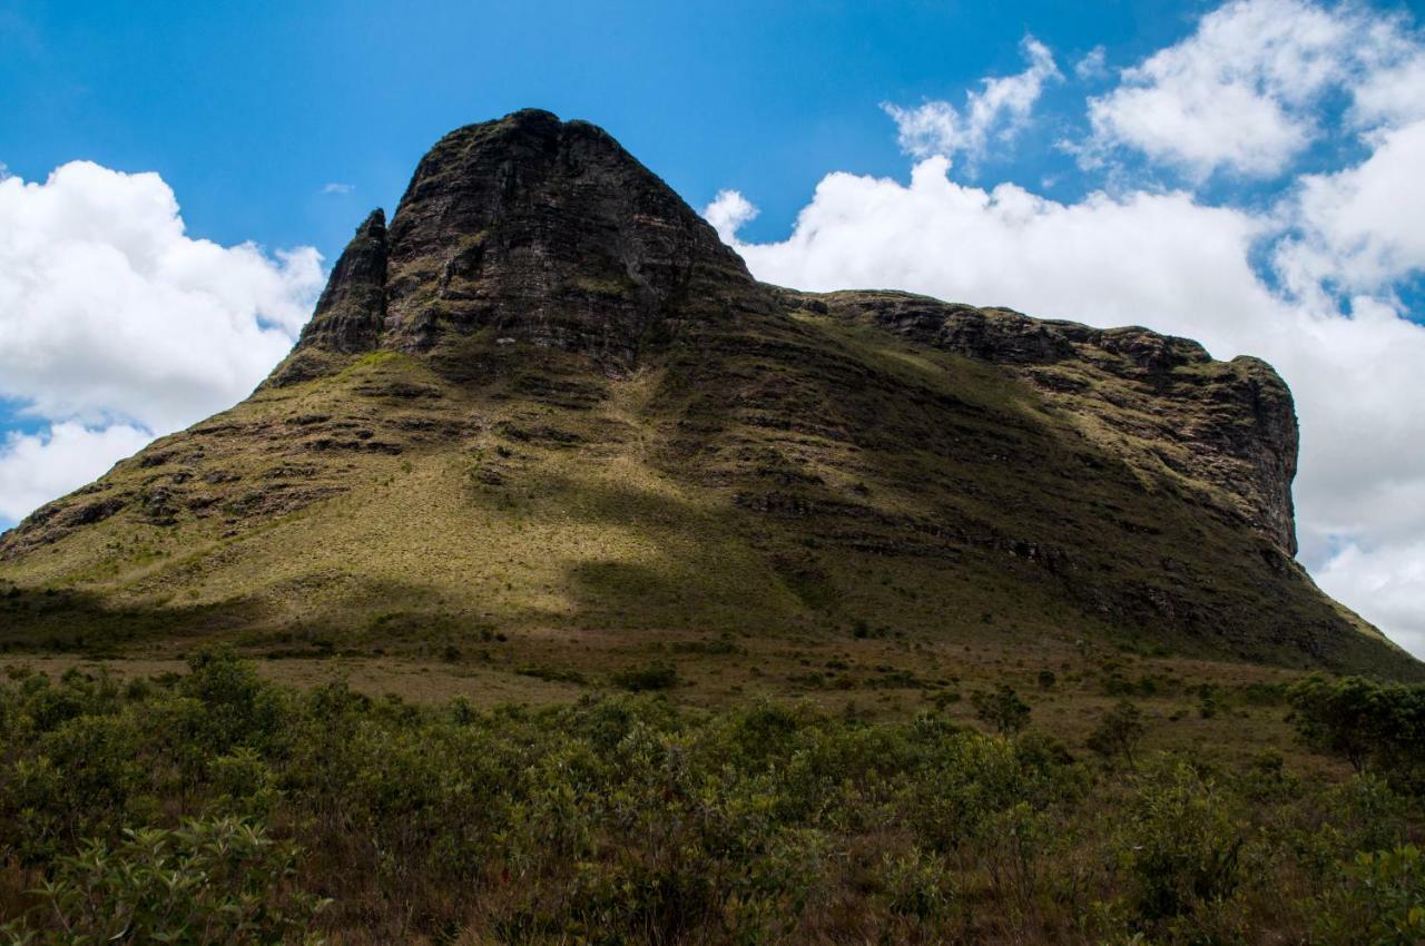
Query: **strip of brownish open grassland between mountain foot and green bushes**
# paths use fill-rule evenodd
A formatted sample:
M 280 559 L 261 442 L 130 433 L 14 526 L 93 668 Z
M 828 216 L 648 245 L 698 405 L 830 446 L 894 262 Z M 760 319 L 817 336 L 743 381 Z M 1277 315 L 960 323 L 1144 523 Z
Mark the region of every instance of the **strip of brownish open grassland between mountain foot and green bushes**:
M 1241 761 L 1277 749 L 1294 761 L 1340 772 L 1340 764 L 1302 752 L 1285 722 L 1282 688 L 1298 672 L 1257 664 L 1153 657 L 1059 641 L 935 644 L 848 637 L 768 640 L 647 631 L 529 631 L 493 634 L 465 645 L 390 641 L 341 651 L 321 644 L 268 641 L 228 645 L 256 672 L 299 688 L 345 681 L 373 698 L 416 704 L 455 697 L 472 705 L 569 704 L 620 690 L 620 671 L 665 665 L 675 682 L 661 690 L 674 702 L 728 708 L 758 700 L 804 702 L 841 714 L 848 708 L 876 719 L 906 719 L 935 710 L 979 725 L 970 694 L 1000 684 L 1032 707 L 1033 725 L 1082 745 L 1102 712 L 1131 697 L 1144 711 L 1144 745 Z M 211 645 L 214 641 L 208 641 Z M 70 668 L 108 672 L 118 681 L 181 672 L 191 641 L 135 648 L 123 658 L 76 654 L 10 654 L 6 668 L 57 677 Z M 1052 674 L 1040 678 L 1042 674 Z M 1204 718 L 1203 694 L 1213 710 Z

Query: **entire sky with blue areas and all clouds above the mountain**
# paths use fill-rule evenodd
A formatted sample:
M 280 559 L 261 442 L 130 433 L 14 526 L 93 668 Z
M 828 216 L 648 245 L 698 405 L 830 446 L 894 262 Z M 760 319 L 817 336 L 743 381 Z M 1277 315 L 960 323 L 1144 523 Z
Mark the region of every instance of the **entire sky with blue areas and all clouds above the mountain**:
M 613 132 L 760 278 L 1261 355 L 1425 653 L 1422 3 L 0 0 L 0 529 L 241 399 L 450 128 Z

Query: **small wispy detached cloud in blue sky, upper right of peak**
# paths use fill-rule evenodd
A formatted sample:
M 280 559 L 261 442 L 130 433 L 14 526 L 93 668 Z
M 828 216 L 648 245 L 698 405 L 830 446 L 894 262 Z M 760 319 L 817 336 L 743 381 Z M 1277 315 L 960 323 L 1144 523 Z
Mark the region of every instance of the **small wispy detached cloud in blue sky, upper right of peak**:
M 1060 74 L 1047 46 L 1026 36 L 1022 47 L 1029 67 L 1017 76 L 983 80 L 982 88 L 966 94 L 963 110 L 948 101 L 928 101 L 918 108 L 882 105 L 895 118 L 905 152 L 921 158 L 963 152 L 973 164 L 985 157 L 992 140 L 1009 140 L 1023 128 L 1045 84 Z

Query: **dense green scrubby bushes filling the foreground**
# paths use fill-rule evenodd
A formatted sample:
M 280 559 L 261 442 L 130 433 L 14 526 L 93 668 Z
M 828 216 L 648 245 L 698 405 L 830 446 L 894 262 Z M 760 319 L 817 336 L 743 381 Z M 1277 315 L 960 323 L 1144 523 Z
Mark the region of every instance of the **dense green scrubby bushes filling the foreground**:
M 1334 779 L 1134 755 L 1130 704 L 1094 738 L 1106 764 L 1005 692 L 982 697 L 1000 735 L 660 694 L 416 707 L 222 654 L 123 685 L 14 677 L 13 942 L 1345 945 L 1425 922 L 1394 752 Z M 1314 741 L 1320 687 L 1374 684 L 1298 684 Z

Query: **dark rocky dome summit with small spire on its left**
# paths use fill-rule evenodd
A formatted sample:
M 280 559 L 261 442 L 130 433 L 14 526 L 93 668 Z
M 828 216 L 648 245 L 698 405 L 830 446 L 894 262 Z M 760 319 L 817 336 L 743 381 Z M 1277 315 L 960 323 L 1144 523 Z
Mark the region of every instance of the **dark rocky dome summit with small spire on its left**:
M 480 332 L 627 368 L 690 318 L 747 309 L 738 295 L 765 305 L 741 258 L 607 132 L 517 111 L 436 142 L 389 234 L 379 211 L 362 224 L 274 380 L 325 370 L 325 353 Z

